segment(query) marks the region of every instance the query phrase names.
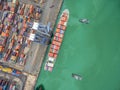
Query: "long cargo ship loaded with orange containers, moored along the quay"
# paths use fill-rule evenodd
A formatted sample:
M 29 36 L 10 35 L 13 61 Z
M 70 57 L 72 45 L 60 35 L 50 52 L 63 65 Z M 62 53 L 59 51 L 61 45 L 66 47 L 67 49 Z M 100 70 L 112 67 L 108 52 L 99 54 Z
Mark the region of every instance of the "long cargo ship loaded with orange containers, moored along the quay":
M 44 70 L 52 72 L 54 68 L 55 61 L 56 61 L 56 58 L 58 56 L 58 53 L 59 53 L 59 50 L 60 50 L 60 47 L 63 41 L 68 19 L 69 19 L 69 10 L 65 9 L 62 12 L 62 15 L 60 16 L 60 20 L 57 24 L 56 31 L 55 31 L 55 34 L 54 34 L 54 37 L 53 37 L 53 40 L 52 40 L 52 43 L 50 45 L 50 49 L 48 52 L 47 61 L 44 66 Z

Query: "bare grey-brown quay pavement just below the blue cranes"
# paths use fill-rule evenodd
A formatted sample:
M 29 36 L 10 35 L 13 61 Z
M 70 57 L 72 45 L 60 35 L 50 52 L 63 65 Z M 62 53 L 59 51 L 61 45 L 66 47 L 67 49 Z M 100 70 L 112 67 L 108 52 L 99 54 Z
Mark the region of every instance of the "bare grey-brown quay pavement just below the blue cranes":
M 31 49 L 28 54 L 27 62 L 24 68 L 25 72 L 32 75 L 37 75 L 42 63 L 47 46 L 32 43 Z M 38 58 L 37 58 L 38 57 Z

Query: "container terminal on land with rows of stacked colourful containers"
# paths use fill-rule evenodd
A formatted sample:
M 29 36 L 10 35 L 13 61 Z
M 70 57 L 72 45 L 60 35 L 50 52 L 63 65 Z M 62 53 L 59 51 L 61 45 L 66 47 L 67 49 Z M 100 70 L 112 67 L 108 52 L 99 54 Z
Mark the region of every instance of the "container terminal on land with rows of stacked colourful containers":
M 35 89 L 49 45 L 42 40 L 51 37 L 40 33 L 42 39 L 32 41 L 30 35 L 38 33 L 34 30 L 38 24 L 49 26 L 53 32 L 62 3 L 63 0 L 0 1 L 0 80 L 8 83 L 7 87 Z

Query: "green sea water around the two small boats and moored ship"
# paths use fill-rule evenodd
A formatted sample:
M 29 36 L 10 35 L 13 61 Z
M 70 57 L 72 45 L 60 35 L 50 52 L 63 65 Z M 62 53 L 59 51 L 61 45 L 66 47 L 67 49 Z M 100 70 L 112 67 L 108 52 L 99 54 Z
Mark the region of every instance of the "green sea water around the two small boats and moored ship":
M 45 90 L 120 90 L 120 0 L 64 0 L 70 18 L 53 72 L 39 75 Z M 89 24 L 79 22 L 90 20 Z M 80 74 L 77 81 L 71 74 Z

